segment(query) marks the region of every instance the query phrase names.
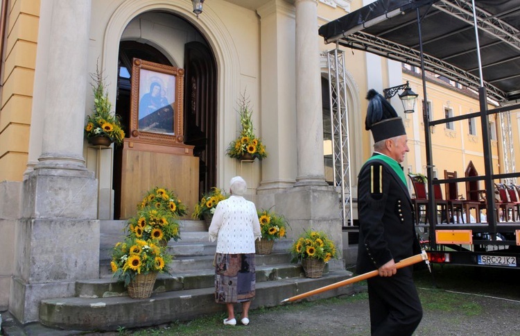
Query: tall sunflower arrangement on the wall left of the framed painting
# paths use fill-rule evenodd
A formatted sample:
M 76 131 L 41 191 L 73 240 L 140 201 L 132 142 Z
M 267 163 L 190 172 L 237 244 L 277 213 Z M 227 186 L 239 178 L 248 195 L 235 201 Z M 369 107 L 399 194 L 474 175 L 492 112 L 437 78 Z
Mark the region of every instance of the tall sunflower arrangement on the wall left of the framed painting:
M 94 81 L 92 91 L 94 92 L 94 112 L 87 116 L 87 126 L 85 126 L 85 137 L 90 140 L 92 137 L 105 136 L 116 145 L 121 145 L 125 137 L 125 132 L 121 128 L 119 116 L 110 112 L 112 103 L 108 100 L 108 92 L 103 81 L 103 72 L 96 66 L 96 73 L 90 74 Z

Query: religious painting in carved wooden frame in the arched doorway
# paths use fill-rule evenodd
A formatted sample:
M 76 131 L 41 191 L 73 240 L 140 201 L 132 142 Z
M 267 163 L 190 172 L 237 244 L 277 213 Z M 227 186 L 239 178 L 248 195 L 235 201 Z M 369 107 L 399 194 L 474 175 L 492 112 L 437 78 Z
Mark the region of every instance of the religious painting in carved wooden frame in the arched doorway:
M 183 85 L 184 69 L 134 58 L 130 138 L 183 143 Z

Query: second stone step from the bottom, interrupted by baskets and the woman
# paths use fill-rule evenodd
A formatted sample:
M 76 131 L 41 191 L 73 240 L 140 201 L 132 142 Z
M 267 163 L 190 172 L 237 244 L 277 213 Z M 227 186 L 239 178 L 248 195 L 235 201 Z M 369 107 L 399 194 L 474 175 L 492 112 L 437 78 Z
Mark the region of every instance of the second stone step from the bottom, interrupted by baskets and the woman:
M 325 265 L 323 274 L 329 272 Z M 257 265 L 256 281 L 281 280 L 285 278 L 298 278 L 303 276 L 300 264 L 260 264 Z M 155 281 L 155 292 L 168 292 L 175 290 L 198 289 L 214 287 L 215 270 L 198 269 L 197 271 L 175 271 L 171 274 L 159 274 Z M 112 276 L 76 281 L 76 296 L 85 298 L 103 298 L 111 296 L 128 295 L 123 283 L 118 283 Z

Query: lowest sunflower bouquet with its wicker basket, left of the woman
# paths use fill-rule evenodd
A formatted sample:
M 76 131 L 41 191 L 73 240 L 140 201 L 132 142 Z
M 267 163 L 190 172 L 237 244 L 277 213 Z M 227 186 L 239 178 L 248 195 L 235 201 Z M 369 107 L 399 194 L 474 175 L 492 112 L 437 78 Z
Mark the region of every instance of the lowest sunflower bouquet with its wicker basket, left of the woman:
M 168 271 L 172 258 L 158 240 L 130 235 L 114 246 L 110 266 L 114 278 L 124 283 L 132 299 L 146 299 L 153 292 L 157 273 Z

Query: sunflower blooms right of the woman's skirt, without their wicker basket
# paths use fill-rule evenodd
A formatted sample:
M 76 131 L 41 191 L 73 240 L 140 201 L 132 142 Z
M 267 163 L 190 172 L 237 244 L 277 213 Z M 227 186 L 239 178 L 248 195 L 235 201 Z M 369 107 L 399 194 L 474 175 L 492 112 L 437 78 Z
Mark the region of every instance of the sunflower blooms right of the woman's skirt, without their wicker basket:
M 297 262 L 305 258 L 315 258 L 328 262 L 331 258 L 338 258 L 338 251 L 332 240 L 322 231 L 304 232 L 302 236 L 291 247 L 293 260 Z

